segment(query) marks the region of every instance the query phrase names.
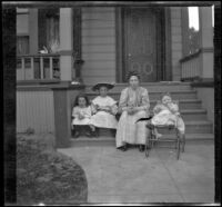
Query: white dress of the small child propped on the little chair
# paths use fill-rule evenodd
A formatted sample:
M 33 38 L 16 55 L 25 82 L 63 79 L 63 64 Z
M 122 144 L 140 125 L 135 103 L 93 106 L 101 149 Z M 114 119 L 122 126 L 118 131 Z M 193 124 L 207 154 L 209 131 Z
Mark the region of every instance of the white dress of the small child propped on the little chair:
M 154 108 L 154 116 L 151 124 L 154 126 L 175 126 L 181 134 L 185 132 L 185 125 L 180 116 L 179 107 L 176 103 L 170 102 L 167 106 L 158 103 Z

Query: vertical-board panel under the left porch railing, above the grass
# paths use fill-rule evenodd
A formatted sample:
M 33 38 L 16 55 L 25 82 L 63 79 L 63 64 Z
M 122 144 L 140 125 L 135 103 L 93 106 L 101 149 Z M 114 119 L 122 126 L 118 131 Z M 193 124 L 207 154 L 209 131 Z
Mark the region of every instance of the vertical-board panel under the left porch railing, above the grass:
M 52 91 L 17 91 L 17 132 L 29 127 L 36 132 L 54 131 Z

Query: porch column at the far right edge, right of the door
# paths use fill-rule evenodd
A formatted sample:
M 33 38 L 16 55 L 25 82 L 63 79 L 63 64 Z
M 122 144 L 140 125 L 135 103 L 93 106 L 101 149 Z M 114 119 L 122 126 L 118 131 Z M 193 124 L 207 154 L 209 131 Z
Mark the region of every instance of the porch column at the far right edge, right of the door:
M 212 8 L 200 7 L 200 48 L 202 62 L 202 79 L 213 79 L 213 27 Z

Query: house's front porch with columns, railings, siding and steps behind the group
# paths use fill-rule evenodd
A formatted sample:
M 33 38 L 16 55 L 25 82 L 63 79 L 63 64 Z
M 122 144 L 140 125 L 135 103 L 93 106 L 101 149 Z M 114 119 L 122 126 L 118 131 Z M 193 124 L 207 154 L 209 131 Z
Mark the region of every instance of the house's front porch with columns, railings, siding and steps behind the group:
M 135 69 L 144 77 L 142 86 L 148 88 L 152 106 L 161 92 L 172 92 L 180 100 L 191 140 L 214 138 L 212 9 L 199 8 L 200 31 L 192 50 L 188 47 L 188 8 L 162 8 L 152 18 L 139 12 L 142 29 L 149 26 L 145 30 L 149 38 L 134 46 L 129 40 L 133 28 L 127 26 L 135 24 L 127 13 L 114 7 L 60 8 L 50 12 L 29 9 L 29 52 L 19 55 L 17 60 L 18 132 L 28 128 L 53 132 L 58 147 L 69 147 L 75 96 L 84 91 L 93 98 L 95 93 L 90 87 L 109 81 L 117 82 L 111 96 L 118 100 L 121 89 L 127 87 L 125 73 Z M 161 19 L 162 29 L 158 21 L 151 21 L 157 17 Z M 44 21 L 44 18 L 48 19 Z M 157 37 L 149 30 L 153 23 Z M 142 31 L 141 28 L 138 31 Z M 135 40 L 140 34 L 134 34 Z M 51 38 L 59 40 L 59 45 L 51 43 Z M 148 46 L 153 50 L 148 50 Z M 138 55 L 144 56 L 140 59 Z M 201 82 L 202 88 L 193 81 Z M 204 85 L 205 81 L 210 85 Z M 108 142 L 109 139 L 108 136 Z

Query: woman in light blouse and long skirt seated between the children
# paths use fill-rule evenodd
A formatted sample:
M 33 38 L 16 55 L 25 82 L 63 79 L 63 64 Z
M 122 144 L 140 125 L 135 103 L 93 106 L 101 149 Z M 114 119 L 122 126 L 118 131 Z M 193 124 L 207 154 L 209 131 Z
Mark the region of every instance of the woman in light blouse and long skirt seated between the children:
M 128 144 L 139 145 L 140 151 L 144 151 L 149 129 L 145 127 L 145 121 L 137 122 L 137 120 L 149 117 L 149 95 L 145 88 L 140 87 L 140 76 L 137 71 L 130 71 L 128 80 L 129 87 L 121 91 L 119 101 L 121 117 L 117 128 L 115 144 L 117 148 L 123 151 L 128 149 Z

